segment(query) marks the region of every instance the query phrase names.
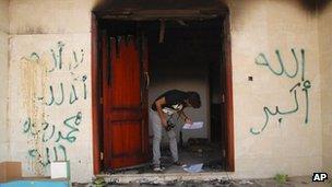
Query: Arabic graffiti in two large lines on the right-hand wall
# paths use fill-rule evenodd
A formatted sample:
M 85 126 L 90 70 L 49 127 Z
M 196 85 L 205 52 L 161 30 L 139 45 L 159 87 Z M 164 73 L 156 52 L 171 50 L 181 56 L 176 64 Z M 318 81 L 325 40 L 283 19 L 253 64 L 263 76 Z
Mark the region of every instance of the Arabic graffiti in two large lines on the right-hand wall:
M 311 83 L 309 80 L 306 79 L 305 72 L 306 72 L 306 55 L 305 55 L 305 49 L 300 49 L 300 56 L 298 56 L 298 52 L 295 49 L 292 49 L 292 55 L 294 58 L 294 65 L 295 65 L 295 70 L 293 72 L 289 72 L 287 67 L 285 67 L 285 63 L 283 61 L 283 58 L 281 56 L 280 50 L 275 50 L 275 55 L 278 61 L 278 68 L 273 68 L 265 57 L 264 54 L 260 54 L 256 58 L 256 65 L 266 67 L 273 74 L 277 77 L 284 77 L 287 79 L 296 79 L 298 74 L 300 73 L 300 80 L 289 89 L 289 94 L 294 100 L 294 104 L 290 108 L 287 109 L 282 109 L 278 106 L 275 106 L 275 108 L 269 108 L 268 106 L 263 107 L 263 113 L 264 113 L 264 122 L 259 126 L 259 127 L 251 127 L 250 132 L 252 135 L 260 135 L 266 126 L 270 122 L 270 117 L 271 116 L 277 116 L 278 117 L 278 122 L 281 124 L 283 120 L 283 117 L 286 115 L 295 114 L 299 109 L 299 102 L 298 102 L 298 92 L 304 92 L 305 93 L 305 115 L 304 115 L 304 122 L 308 124 L 309 120 L 309 89 L 311 87 Z M 299 61 L 300 60 L 300 61 Z

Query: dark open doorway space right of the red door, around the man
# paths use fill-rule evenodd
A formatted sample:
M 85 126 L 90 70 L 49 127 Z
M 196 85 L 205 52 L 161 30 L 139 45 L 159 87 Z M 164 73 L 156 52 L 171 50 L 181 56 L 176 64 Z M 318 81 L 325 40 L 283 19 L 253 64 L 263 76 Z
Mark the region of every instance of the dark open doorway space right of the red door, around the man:
M 181 163 L 203 163 L 206 172 L 226 170 L 226 114 L 222 109 L 225 107 L 223 94 L 226 81 L 222 70 L 222 67 L 225 68 L 222 23 L 221 17 L 167 21 L 164 22 L 164 36 L 161 36 L 161 22 L 153 22 L 145 30 L 150 57 L 150 105 L 158 95 L 173 89 L 197 91 L 201 95 L 201 108 L 186 108 L 185 113 L 193 121 L 203 121 L 203 128 L 185 130 L 181 129 L 185 121 L 178 120 L 175 131 Z M 163 139 L 164 154 L 169 155 L 167 136 Z M 164 157 L 166 163 L 171 163 L 169 156 Z M 181 168 L 171 166 L 169 171 Z

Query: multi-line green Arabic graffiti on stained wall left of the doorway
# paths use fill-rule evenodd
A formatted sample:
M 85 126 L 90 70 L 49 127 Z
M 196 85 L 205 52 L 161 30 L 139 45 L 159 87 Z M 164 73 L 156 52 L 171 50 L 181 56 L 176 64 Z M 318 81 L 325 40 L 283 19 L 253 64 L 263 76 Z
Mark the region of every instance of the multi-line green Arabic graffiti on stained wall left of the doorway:
M 87 100 L 87 75 L 80 71 L 84 50 L 66 49 L 66 44 L 58 42 L 49 50 L 21 58 L 27 106 L 27 116 L 21 121 L 31 147 L 27 156 L 37 174 L 52 161 L 69 159 L 68 145 L 76 142 L 82 126 L 83 114 L 76 106 Z M 63 108 L 69 113 L 58 113 Z

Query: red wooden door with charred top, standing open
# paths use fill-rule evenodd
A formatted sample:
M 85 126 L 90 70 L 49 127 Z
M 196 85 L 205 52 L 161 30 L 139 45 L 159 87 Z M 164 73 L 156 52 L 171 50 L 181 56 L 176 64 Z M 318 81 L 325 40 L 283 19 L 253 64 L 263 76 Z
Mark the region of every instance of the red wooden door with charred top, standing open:
M 111 170 L 149 159 L 145 44 L 102 32 L 104 165 Z

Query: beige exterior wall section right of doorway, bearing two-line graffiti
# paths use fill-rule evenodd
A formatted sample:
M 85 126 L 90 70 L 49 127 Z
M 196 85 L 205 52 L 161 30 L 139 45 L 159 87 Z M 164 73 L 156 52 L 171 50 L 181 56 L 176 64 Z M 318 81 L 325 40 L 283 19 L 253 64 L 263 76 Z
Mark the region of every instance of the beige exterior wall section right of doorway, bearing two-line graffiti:
M 312 175 L 322 165 L 316 12 L 281 0 L 229 8 L 236 174 Z

